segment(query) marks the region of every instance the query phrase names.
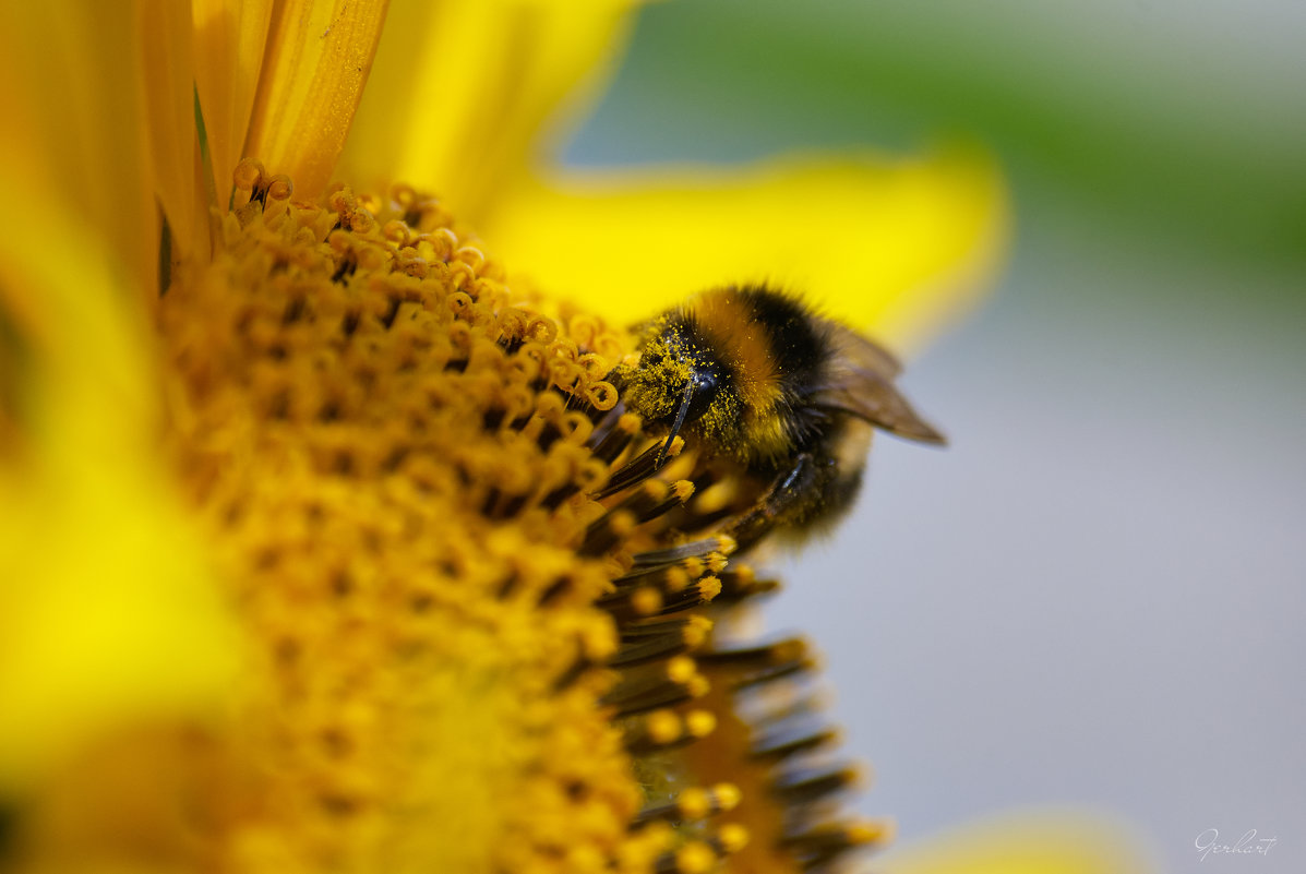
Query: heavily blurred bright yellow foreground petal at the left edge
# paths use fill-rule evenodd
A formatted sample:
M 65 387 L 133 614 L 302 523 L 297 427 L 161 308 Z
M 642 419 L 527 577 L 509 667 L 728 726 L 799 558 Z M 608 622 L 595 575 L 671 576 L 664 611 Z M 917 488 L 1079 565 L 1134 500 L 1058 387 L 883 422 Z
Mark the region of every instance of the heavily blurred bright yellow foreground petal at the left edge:
M 0 781 L 125 720 L 212 715 L 236 638 L 159 465 L 149 328 L 103 247 L 27 205 L 0 235 Z

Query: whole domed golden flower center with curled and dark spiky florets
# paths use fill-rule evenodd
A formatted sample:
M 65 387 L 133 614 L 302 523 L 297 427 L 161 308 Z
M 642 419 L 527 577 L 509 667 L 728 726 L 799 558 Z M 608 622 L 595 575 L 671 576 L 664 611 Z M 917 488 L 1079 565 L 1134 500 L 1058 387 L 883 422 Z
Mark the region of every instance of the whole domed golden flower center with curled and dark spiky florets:
M 797 870 L 870 840 L 814 819 L 849 772 L 794 764 L 828 741 L 804 705 L 735 712 L 811 660 L 712 641 L 709 601 L 773 584 L 712 534 L 729 476 L 682 442 L 658 470 L 622 412 L 632 338 L 411 189 L 298 202 L 249 161 L 236 189 L 161 304 L 171 452 L 249 644 L 209 827 L 235 869 Z

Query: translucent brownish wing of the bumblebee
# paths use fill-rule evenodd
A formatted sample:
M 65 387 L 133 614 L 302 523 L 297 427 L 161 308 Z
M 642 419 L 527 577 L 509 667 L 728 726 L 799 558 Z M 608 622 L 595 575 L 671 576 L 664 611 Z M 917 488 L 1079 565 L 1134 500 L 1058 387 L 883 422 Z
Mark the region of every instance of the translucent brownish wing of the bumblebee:
M 909 440 L 947 443 L 893 387 L 902 366 L 888 351 L 848 328 L 831 323 L 836 353 L 827 379 L 812 396 L 816 406 L 838 410 Z

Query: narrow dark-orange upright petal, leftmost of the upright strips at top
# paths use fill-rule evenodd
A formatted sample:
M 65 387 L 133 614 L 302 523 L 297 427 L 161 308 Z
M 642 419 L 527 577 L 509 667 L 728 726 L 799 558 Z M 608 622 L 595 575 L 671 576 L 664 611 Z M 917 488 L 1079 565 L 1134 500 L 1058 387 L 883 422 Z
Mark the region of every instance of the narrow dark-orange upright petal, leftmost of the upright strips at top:
M 191 8 L 175 0 L 138 0 L 142 85 L 150 179 L 167 216 L 174 259 L 197 255 L 195 188 L 195 72 L 191 52 Z

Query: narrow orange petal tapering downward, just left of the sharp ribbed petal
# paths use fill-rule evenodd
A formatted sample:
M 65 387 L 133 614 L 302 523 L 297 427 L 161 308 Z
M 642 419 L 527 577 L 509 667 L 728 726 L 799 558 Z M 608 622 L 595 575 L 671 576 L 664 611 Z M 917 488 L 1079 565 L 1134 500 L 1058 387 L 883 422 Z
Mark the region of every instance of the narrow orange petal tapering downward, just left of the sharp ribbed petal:
M 192 0 L 191 9 L 195 90 L 204 114 L 217 205 L 226 208 L 231 172 L 243 157 L 249 129 L 272 21 L 272 0 Z

